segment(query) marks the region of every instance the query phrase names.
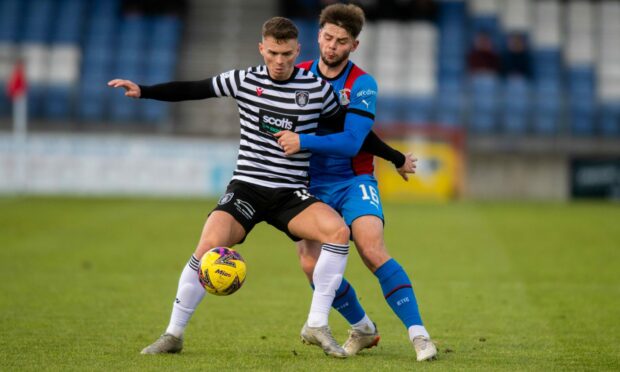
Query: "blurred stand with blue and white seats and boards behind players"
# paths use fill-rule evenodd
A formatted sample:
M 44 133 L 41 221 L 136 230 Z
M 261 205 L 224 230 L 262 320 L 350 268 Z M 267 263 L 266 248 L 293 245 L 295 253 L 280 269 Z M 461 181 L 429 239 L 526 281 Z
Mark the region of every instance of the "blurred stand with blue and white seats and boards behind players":
M 131 100 L 115 77 L 199 80 L 262 63 L 271 16 L 318 56 L 319 0 L 0 0 L 0 192 L 218 196 L 233 100 Z M 620 2 L 363 0 L 352 59 L 376 130 L 419 160 L 385 198 L 620 199 Z M 23 75 L 20 75 L 20 71 Z

